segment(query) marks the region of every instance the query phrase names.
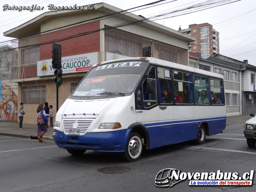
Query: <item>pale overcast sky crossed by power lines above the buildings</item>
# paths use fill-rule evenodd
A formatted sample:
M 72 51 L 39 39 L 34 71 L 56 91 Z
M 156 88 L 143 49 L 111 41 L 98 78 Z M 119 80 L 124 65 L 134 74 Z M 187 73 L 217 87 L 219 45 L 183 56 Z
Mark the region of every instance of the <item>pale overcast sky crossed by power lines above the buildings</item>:
M 3 1 L 0 9 L 0 46 L 8 44 L 8 41 L 12 38 L 3 36 L 3 32 L 6 32 L 12 28 L 18 27 L 28 20 L 35 18 L 44 12 L 50 11 L 48 9 L 49 4 L 54 6 L 82 6 L 88 4 L 95 4 L 104 2 L 120 9 L 126 10 L 134 8 L 140 5 L 155 2 L 156 0 L 8 0 Z M 235 2 L 237 1 L 237 2 Z M 202 11 L 193 8 L 196 4 L 203 4 L 204 2 L 220 3 L 220 2 L 234 2 L 217 6 Z M 164 3 L 164 4 L 163 4 Z M 4 5 L 8 6 L 32 6 L 42 8 L 43 10 L 8 10 L 4 9 Z M 161 5 L 158 5 L 161 4 Z M 256 1 L 253 0 L 166 0 L 156 4 L 154 7 L 143 7 L 145 9 L 137 8 L 130 10 L 136 15 L 142 15 L 146 18 L 158 15 L 164 12 L 172 12 L 173 10 L 186 9 L 186 13 L 171 18 L 157 18 L 154 22 L 157 22 L 166 27 L 178 30 L 188 28 L 190 24 L 209 23 L 220 33 L 220 54 L 236 60 L 248 60 L 248 63 L 256 66 Z M 189 9 L 190 8 L 190 9 Z M 141 10 L 138 10 L 141 9 Z M 203 8 L 201 8 L 203 9 Z M 138 11 L 136 11 L 138 10 Z M 197 11 L 197 12 L 196 12 Z M 174 16 L 174 13 L 168 15 Z M 166 16 L 166 17 L 168 17 Z M 151 19 L 150 19 L 151 20 Z M 155 40 L 158 40 L 157 37 Z

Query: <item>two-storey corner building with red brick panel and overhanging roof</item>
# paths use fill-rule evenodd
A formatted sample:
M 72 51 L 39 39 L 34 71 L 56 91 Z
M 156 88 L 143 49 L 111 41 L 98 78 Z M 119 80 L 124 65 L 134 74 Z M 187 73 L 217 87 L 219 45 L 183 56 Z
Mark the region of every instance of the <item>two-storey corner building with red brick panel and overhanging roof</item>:
M 12 41 L 10 81 L 18 83 L 18 103 L 24 103 L 23 123 L 36 124 L 36 108 L 48 102 L 56 114 L 52 44 L 62 48 L 59 107 L 92 65 L 112 59 L 141 57 L 151 46 L 152 57 L 188 66 L 188 43 L 195 38 L 105 3 L 94 9 L 45 12 L 4 32 Z M 98 17 L 103 18 L 95 19 Z M 124 25 L 135 22 L 136 25 Z

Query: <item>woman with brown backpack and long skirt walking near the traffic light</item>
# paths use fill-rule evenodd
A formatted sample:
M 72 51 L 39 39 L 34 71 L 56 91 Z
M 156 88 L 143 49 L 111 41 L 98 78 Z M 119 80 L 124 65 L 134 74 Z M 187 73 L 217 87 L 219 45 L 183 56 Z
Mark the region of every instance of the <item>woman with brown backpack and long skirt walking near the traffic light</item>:
M 37 137 L 38 137 L 38 142 L 44 142 L 42 140 L 42 137 L 44 135 L 44 133 L 46 133 L 47 130 L 47 123 L 48 123 L 48 117 L 49 114 L 46 114 L 44 109 L 43 109 L 44 105 L 43 104 L 39 104 L 36 112 L 37 112 Z M 47 121 L 47 122 L 46 122 Z

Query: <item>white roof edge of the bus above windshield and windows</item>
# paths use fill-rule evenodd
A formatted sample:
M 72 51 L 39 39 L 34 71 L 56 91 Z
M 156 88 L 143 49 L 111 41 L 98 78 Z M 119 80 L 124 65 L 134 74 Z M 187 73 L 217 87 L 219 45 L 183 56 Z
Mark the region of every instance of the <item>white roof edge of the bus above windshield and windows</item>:
M 138 60 L 138 59 L 141 59 L 141 57 L 133 57 L 133 58 L 124 58 L 124 59 L 103 61 L 103 62 L 101 62 L 101 64 L 107 64 L 107 63 L 110 63 L 110 62 L 111 63 L 112 62 L 119 62 L 119 61 L 124 61 L 124 60 L 126 60 L 126 61 Z M 170 62 L 170 61 L 156 59 L 154 57 L 147 57 L 145 60 L 148 60 L 149 63 L 151 63 L 151 64 L 157 64 L 157 65 L 161 65 L 163 67 L 171 67 L 171 68 L 174 68 L 174 69 L 180 69 L 180 70 L 184 70 L 184 71 L 191 72 L 191 73 L 197 73 L 197 74 L 201 74 L 201 75 L 212 76 L 212 77 L 223 79 L 223 75 L 218 74 L 218 73 L 213 73 L 213 72 L 205 71 L 205 70 L 198 69 L 198 68 L 188 67 L 188 66 L 173 63 L 173 62 Z

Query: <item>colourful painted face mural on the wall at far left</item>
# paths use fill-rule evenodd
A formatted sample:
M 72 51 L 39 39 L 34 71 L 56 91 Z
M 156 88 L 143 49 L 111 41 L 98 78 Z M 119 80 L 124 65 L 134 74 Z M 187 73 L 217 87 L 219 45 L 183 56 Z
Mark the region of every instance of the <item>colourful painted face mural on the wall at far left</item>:
M 18 84 L 0 81 L 0 120 L 17 121 Z

